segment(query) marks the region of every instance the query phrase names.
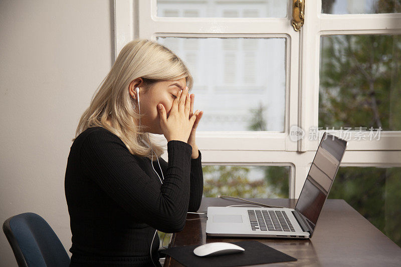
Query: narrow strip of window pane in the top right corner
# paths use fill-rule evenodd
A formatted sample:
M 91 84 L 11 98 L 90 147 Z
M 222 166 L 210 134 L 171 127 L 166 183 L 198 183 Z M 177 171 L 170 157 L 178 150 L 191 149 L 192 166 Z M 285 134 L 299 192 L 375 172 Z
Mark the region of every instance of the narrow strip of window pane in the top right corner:
M 377 14 L 399 13 L 399 0 L 322 0 L 325 14 Z

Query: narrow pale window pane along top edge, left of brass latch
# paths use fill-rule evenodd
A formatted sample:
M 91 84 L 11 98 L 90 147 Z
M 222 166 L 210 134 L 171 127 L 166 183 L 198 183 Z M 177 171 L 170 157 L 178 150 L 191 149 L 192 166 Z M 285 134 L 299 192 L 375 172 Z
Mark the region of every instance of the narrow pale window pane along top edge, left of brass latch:
M 284 0 L 157 0 L 157 17 L 180 18 L 285 18 Z

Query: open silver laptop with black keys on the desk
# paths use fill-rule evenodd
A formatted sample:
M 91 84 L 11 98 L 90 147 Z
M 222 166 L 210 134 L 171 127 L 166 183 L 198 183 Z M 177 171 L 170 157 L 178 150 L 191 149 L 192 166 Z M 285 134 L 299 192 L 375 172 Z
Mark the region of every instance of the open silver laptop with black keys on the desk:
M 295 209 L 208 207 L 206 234 L 311 238 L 347 142 L 324 133 Z

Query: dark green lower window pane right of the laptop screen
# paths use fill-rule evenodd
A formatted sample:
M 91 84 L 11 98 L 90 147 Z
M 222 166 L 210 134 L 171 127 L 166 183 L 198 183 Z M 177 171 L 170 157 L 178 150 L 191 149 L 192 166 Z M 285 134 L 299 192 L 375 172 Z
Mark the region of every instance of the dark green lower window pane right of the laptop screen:
M 340 167 L 329 198 L 344 199 L 401 246 L 401 167 Z

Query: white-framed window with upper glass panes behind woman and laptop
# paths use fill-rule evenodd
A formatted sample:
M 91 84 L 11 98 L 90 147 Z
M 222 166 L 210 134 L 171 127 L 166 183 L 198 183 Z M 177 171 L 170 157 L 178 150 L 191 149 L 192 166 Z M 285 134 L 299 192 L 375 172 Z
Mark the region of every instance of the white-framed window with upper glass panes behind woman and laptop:
M 205 167 L 289 166 L 297 198 L 325 130 L 349 141 L 342 166 L 401 166 L 399 1 L 308 0 L 300 32 L 292 1 L 242 3 L 115 1 L 116 55 L 153 39 L 193 72 Z M 370 84 L 364 69 L 376 75 Z

